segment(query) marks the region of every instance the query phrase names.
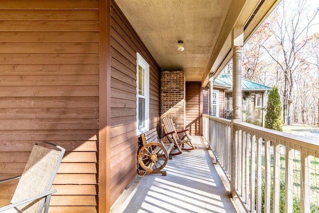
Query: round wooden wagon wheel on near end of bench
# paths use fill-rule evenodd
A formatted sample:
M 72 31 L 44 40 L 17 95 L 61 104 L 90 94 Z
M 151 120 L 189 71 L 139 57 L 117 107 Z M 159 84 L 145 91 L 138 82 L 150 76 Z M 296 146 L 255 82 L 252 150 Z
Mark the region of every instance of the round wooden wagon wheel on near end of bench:
M 139 163 L 147 173 L 158 173 L 165 167 L 168 154 L 159 143 L 148 143 L 139 152 Z

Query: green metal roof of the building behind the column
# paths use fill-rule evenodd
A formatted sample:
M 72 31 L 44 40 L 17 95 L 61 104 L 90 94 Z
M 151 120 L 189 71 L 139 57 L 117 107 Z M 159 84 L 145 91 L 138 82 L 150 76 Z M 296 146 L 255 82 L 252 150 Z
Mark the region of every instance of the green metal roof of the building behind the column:
M 232 74 L 221 74 L 214 80 L 214 85 L 230 88 L 232 90 L 233 87 L 233 75 Z M 251 91 L 258 91 L 258 90 L 271 90 L 271 87 L 259 84 L 247 79 L 241 79 L 241 89 L 243 91 L 251 90 Z

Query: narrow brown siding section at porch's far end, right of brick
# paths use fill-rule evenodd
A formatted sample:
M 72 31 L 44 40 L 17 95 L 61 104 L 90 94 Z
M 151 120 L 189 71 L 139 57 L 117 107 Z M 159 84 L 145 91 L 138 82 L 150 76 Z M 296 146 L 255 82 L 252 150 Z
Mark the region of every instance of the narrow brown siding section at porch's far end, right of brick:
M 200 135 L 200 82 L 186 82 L 185 127 L 190 135 Z

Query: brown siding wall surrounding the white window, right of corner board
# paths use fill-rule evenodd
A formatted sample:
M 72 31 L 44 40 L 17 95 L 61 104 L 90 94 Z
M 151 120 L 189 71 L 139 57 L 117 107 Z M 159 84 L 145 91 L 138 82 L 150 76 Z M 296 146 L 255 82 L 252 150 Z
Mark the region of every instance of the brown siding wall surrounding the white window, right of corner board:
M 137 176 L 137 52 L 150 64 L 150 129 L 160 126 L 160 67 L 111 1 L 111 204 Z

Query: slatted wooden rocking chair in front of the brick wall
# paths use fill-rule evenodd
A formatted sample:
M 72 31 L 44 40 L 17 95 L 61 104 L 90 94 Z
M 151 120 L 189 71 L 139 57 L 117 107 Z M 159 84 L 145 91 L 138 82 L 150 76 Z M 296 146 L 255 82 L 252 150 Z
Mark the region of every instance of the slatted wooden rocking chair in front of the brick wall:
M 185 129 L 185 130 L 177 132 L 171 118 L 163 118 L 163 123 L 164 124 L 162 126 L 164 129 L 164 134 L 166 135 L 170 143 L 175 144 L 179 152 L 181 152 L 181 150 L 190 151 L 190 150 L 197 149 L 197 147 L 195 147 L 192 144 L 191 139 L 187 133 L 189 129 Z M 181 133 L 183 134 L 183 136 L 181 139 L 179 139 L 178 134 L 181 134 Z M 189 148 L 186 148 L 184 146 L 185 144 L 187 144 Z

